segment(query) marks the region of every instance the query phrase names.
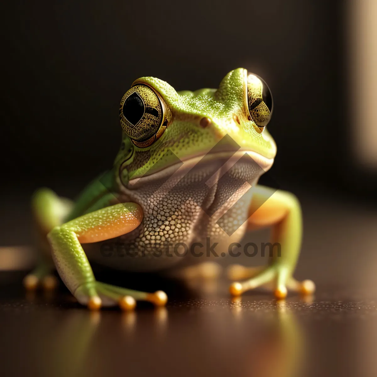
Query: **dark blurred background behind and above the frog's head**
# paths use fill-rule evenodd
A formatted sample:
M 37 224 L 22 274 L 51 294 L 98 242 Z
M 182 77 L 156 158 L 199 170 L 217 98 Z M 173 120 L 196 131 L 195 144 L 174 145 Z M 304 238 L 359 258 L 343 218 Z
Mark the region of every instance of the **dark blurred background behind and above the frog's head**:
M 20 2 L 7 4 L 2 44 L 2 189 L 65 194 L 108 169 L 120 144 L 118 103 L 155 76 L 176 90 L 218 87 L 236 67 L 274 97 L 271 175 L 348 195 L 345 2 Z M 370 178 L 370 177 L 369 177 Z M 359 180 L 360 181 L 360 180 Z M 286 183 L 290 182 L 290 183 Z

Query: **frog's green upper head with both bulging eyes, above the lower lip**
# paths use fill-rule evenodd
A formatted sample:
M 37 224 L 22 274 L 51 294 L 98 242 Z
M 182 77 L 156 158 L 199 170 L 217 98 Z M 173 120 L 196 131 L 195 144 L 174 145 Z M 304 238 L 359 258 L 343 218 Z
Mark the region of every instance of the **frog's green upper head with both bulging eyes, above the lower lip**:
M 120 103 L 119 179 L 127 184 L 179 160 L 197 162 L 219 153 L 248 153 L 268 170 L 276 155 L 266 129 L 272 107 L 267 84 L 242 68 L 229 72 L 218 89 L 195 92 L 176 92 L 158 78 L 139 78 Z

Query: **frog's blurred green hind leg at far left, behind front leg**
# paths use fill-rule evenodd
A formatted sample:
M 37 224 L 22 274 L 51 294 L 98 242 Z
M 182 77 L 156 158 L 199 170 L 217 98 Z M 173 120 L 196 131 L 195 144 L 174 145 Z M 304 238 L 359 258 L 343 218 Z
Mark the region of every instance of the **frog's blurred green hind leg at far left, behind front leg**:
M 51 247 L 47 234 L 52 228 L 60 225 L 73 207 L 73 202 L 60 198 L 52 190 L 42 188 L 37 190 L 32 198 L 32 212 L 37 228 L 37 246 L 39 259 L 37 267 L 23 280 L 26 289 L 33 290 L 42 285 L 44 289 L 53 289 L 57 279 L 52 272 L 55 270 L 51 256 Z

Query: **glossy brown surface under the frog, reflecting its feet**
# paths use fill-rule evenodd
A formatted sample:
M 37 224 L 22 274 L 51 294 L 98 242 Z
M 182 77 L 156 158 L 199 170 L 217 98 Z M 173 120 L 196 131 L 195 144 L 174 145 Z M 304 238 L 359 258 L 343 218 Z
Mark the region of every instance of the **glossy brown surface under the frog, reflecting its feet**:
M 170 302 L 89 313 L 64 289 L 32 297 L 21 287 L 23 272 L 0 273 L 2 375 L 375 376 L 377 215 L 313 198 L 303 209 L 296 277 L 316 281 L 312 300 L 277 303 L 259 291 L 232 302 L 225 279 L 184 287 L 110 275 L 130 288 L 165 289 Z

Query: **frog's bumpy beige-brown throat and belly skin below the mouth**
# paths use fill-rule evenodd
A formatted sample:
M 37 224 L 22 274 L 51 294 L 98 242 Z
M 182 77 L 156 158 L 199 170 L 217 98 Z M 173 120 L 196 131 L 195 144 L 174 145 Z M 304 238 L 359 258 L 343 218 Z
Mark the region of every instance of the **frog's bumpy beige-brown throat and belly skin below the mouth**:
M 166 174 L 161 174 L 161 178 L 153 178 L 152 175 L 144 182 L 124 188 L 121 201 L 140 204 L 143 222 L 134 231 L 116 240 L 84 245 L 84 250 L 97 263 L 138 271 L 198 262 L 193 253 L 181 256 L 184 246 L 178 250 L 178 255 L 174 253 L 175 245 L 180 242 L 188 248 L 195 242 L 204 245 L 196 249 L 197 253 L 204 252 L 202 260 L 208 260 L 207 242 L 218 243 L 215 252 L 219 256 L 228 253 L 228 246 L 238 242 L 245 232 L 251 192 L 247 193 L 250 185 L 244 183 L 256 182 L 263 170 L 256 164 L 239 162 L 222 176 L 225 162 L 226 159 L 213 158 L 188 173 L 184 170 L 169 179 L 163 189 L 159 188 L 166 181 Z M 206 182 L 213 175 L 216 182 L 208 187 Z

